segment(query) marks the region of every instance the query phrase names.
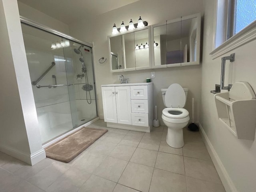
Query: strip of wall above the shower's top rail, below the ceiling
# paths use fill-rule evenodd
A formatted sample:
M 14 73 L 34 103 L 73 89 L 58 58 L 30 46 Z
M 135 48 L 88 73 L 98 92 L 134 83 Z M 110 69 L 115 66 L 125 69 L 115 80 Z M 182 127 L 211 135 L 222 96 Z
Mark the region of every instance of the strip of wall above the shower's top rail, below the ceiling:
M 42 25 L 48 26 L 52 29 L 58 30 L 60 32 L 69 33 L 68 25 L 52 18 L 22 2 L 18 1 L 20 16 L 26 17 L 34 22 L 38 22 Z M 58 8 L 56 8 L 58 9 Z

